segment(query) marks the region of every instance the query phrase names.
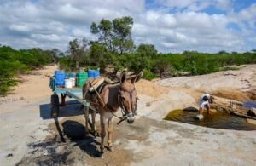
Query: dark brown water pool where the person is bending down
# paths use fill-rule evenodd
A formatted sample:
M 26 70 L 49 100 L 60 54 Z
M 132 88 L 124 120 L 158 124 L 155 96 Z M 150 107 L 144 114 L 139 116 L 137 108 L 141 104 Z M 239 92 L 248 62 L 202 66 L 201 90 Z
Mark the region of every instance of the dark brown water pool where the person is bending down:
M 199 121 L 194 117 L 198 112 L 173 110 L 164 118 L 181 123 L 195 124 L 207 128 L 235 129 L 235 130 L 256 130 L 256 125 L 247 123 L 245 118 L 236 117 L 226 112 L 211 112 L 209 115 L 204 112 L 204 119 Z

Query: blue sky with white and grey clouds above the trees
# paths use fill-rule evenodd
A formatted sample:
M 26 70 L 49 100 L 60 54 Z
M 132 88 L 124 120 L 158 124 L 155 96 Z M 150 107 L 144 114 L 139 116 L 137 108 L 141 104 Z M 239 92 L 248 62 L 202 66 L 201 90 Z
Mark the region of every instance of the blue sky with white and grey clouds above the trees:
M 0 0 L 0 43 L 61 49 L 90 25 L 131 16 L 136 45 L 162 53 L 256 49 L 256 0 Z

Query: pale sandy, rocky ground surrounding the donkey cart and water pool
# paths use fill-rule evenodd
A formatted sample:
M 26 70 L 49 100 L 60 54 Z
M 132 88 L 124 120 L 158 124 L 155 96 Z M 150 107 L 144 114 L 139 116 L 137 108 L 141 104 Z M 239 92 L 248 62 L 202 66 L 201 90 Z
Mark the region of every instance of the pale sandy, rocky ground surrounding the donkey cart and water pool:
M 196 107 L 198 96 L 207 89 L 227 86 L 222 83 L 224 77 L 229 77 L 229 85 L 237 90 L 252 89 L 255 82 L 242 82 L 233 75 L 224 76 L 224 72 L 176 77 L 156 83 L 141 80 L 137 83 L 140 101 L 136 122 L 117 125 L 115 119 L 115 152 L 106 150 L 100 157 L 100 138 L 84 137 L 84 117 L 79 105 L 61 107 L 61 117 L 50 118 L 51 92 L 49 77 L 45 74 L 53 73 L 55 68 L 47 66 L 39 71 L 40 75 L 27 75 L 26 83 L 21 83 L 14 94 L 8 96 L 19 100 L 9 100 L 0 105 L 0 165 L 256 164 L 255 131 L 209 129 L 162 120 L 172 109 Z M 247 80 L 255 78 L 255 66 L 233 72 Z M 208 79 L 203 77 L 212 81 L 206 84 Z M 34 83 L 37 85 L 33 88 L 29 86 Z M 20 100 L 20 97 L 25 100 Z

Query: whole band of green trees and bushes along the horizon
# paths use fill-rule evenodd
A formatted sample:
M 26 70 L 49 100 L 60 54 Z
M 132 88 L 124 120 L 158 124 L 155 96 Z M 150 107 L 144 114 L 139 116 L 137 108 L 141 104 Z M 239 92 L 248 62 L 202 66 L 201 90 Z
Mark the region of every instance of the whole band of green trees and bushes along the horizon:
M 78 71 L 79 67 L 100 67 L 101 72 L 105 72 L 109 65 L 114 68 L 113 73 L 121 68 L 143 70 L 143 77 L 149 80 L 236 70 L 241 64 L 256 63 L 255 49 L 246 53 L 184 51 L 182 54 L 162 54 L 152 44 L 136 46 L 131 37 L 132 26 L 133 19 L 129 16 L 92 22 L 90 32 L 96 40 L 74 39 L 69 42 L 65 54 L 58 49 L 15 50 L 0 45 L 0 94 L 6 94 L 9 87 L 16 84 L 16 74 L 57 62 L 67 72 Z

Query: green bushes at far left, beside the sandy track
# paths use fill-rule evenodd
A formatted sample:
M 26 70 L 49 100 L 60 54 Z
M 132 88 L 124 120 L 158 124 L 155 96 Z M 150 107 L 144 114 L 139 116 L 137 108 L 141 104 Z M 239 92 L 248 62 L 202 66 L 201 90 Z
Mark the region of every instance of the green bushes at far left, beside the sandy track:
M 53 60 L 51 50 L 0 47 L 0 95 L 16 84 L 15 75 L 44 66 Z

